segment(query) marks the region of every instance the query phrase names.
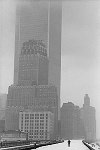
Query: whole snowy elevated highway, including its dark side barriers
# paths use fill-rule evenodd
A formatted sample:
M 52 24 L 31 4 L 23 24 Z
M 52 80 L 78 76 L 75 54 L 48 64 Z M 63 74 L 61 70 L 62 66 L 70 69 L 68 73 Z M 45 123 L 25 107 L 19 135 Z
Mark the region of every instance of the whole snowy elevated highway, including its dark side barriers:
M 97 147 L 92 147 L 92 144 L 84 143 L 82 140 L 71 140 L 70 147 L 68 147 L 68 141 L 64 142 L 40 142 L 31 143 L 28 145 L 21 145 L 15 147 L 1 148 L 0 150 L 27 150 L 27 149 L 37 149 L 37 150 L 100 150 Z

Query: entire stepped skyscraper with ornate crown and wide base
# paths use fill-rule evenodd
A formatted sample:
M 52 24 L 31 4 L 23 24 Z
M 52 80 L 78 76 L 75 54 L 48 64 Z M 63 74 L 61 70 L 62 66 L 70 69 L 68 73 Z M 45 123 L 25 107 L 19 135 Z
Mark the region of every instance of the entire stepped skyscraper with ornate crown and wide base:
M 19 112 L 51 111 L 54 114 L 54 138 L 57 137 L 57 88 L 48 84 L 48 56 L 41 40 L 23 43 L 19 56 L 18 83 L 8 89 L 6 130 L 19 130 Z

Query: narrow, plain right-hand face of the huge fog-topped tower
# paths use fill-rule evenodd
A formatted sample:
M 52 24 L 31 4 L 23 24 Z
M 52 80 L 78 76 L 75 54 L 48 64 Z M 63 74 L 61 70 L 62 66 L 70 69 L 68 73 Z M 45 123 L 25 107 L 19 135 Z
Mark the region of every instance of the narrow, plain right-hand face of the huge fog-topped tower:
M 58 92 L 58 119 L 60 118 L 60 78 L 61 78 L 61 25 L 62 3 L 51 1 L 49 8 L 49 83 L 57 87 Z

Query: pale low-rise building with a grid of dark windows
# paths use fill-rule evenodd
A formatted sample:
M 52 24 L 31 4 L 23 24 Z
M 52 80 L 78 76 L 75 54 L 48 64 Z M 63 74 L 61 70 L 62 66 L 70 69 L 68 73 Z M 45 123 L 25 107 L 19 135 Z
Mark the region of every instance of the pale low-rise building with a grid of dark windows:
M 53 137 L 54 114 L 49 111 L 20 112 L 19 129 L 28 134 L 29 140 L 50 140 Z

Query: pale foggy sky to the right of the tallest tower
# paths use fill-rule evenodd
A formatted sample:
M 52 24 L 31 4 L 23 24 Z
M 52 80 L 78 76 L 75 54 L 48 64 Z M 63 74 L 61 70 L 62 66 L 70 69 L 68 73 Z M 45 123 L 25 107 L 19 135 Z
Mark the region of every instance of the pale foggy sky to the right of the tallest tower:
M 62 103 L 82 106 L 88 93 L 96 107 L 100 137 L 100 2 L 72 1 L 63 5 Z

